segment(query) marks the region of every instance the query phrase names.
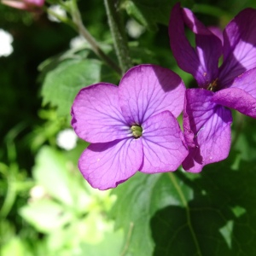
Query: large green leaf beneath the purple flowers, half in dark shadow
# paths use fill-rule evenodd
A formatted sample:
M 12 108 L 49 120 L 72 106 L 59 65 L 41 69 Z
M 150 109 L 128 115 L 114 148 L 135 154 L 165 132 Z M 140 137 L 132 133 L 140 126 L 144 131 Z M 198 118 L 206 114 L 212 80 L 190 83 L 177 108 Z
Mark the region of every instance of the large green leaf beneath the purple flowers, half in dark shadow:
M 255 255 L 256 167 L 236 157 L 200 174 L 137 173 L 113 189 L 125 255 Z M 153 218 L 152 218 L 153 217 Z M 151 227 L 151 229 L 150 229 Z

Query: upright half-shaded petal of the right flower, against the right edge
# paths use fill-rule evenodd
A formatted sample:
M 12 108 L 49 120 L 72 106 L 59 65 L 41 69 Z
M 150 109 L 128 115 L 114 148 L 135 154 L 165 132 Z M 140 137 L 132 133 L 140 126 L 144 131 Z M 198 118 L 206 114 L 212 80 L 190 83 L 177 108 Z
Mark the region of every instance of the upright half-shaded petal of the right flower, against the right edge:
M 224 63 L 219 80 L 224 88 L 241 73 L 256 67 L 256 10 L 244 9 L 224 30 Z

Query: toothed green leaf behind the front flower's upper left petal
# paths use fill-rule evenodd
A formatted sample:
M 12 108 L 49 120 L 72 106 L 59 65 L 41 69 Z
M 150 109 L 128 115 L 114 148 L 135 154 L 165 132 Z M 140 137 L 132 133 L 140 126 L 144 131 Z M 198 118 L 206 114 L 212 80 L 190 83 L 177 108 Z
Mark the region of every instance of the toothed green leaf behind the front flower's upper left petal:
M 69 114 L 79 90 L 100 81 L 101 66 L 101 61 L 89 59 L 62 61 L 46 75 L 42 89 L 43 103 L 56 106 L 59 115 Z

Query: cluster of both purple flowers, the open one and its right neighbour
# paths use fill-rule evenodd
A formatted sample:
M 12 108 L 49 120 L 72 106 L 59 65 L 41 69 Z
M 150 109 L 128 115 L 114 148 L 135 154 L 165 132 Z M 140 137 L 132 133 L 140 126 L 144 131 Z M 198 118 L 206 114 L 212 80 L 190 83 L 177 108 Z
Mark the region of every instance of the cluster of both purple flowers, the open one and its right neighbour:
M 185 26 L 195 33 L 195 48 Z M 169 35 L 178 66 L 194 76 L 198 89 L 185 90 L 171 70 L 140 65 L 119 86 L 90 85 L 73 102 L 73 129 L 90 143 L 79 170 L 94 188 L 114 188 L 137 171 L 176 171 L 181 164 L 201 172 L 230 152 L 229 108 L 256 118 L 255 9 L 241 11 L 222 33 L 177 3 Z M 183 132 L 176 119 L 182 111 Z

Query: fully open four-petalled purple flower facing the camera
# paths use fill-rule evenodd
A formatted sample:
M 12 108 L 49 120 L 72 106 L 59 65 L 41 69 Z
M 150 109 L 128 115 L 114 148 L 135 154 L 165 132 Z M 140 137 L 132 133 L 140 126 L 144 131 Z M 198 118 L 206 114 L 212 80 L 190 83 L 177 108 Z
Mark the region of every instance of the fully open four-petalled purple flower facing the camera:
M 72 125 L 91 143 L 79 170 L 92 187 L 114 188 L 137 171 L 177 170 L 188 154 L 176 119 L 184 91 L 177 74 L 154 65 L 131 68 L 119 87 L 99 83 L 79 91 Z

